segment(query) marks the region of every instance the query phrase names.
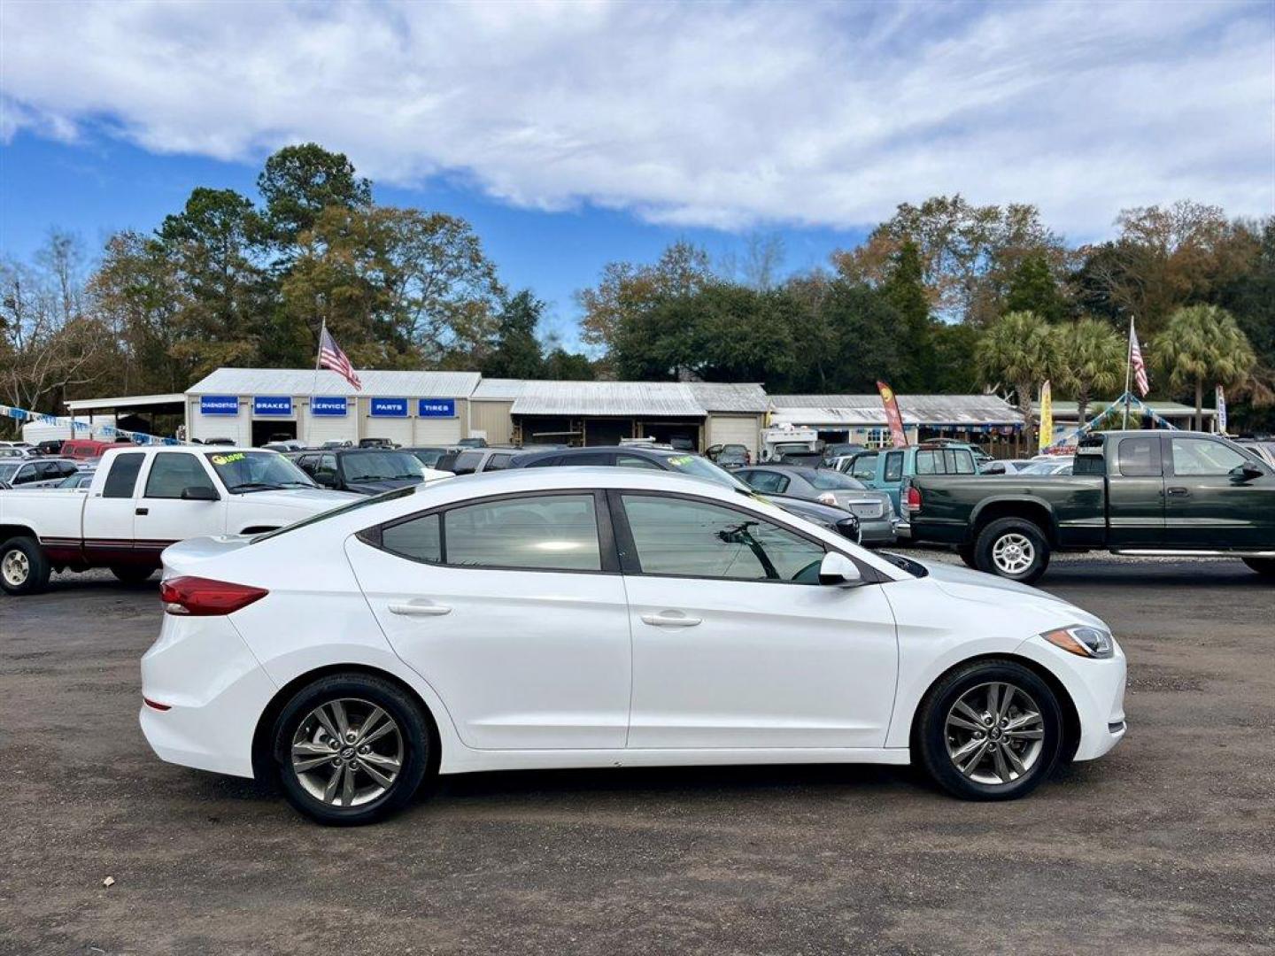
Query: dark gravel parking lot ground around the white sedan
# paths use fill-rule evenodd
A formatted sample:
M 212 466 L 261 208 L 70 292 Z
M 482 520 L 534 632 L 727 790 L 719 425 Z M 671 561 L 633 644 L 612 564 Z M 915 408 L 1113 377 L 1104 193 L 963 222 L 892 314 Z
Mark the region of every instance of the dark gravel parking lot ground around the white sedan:
M 156 585 L 60 576 L 0 598 L 0 951 L 1270 952 L 1275 586 L 1105 557 L 1043 584 L 1112 625 L 1131 729 L 1025 800 L 877 767 L 488 774 L 330 830 L 156 758 Z

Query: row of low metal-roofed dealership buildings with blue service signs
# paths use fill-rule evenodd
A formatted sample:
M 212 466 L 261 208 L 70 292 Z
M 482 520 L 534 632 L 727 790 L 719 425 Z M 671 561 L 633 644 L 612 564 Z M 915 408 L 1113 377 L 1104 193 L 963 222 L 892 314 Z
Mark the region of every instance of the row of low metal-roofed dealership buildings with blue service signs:
M 388 438 L 398 445 L 615 445 L 654 438 L 699 450 L 760 451 L 768 426 L 806 426 L 827 441 L 889 444 L 878 395 L 768 395 L 756 382 L 539 381 L 478 372 L 358 372 L 354 389 L 312 368 L 218 368 L 185 393 L 78 399 L 75 416 L 130 416 L 136 431 L 242 445 Z M 912 441 L 966 437 L 1012 445 L 1023 417 L 996 395 L 899 395 Z M 147 421 L 152 427 L 144 427 Z

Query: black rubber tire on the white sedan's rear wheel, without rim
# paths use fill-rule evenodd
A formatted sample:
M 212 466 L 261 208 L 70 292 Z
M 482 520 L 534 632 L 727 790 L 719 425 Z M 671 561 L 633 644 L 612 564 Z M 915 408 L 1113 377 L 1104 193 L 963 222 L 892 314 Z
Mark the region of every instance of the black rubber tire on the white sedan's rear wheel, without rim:
M 344 771 L 339 766 L 325 762 L 314 774 L 306 774 L 305 781 L 302 780 L 302 775 L 293 767 L 293 739 L 298 730 L 302 725 L 316 727 L 315 723 L 307 721 L 314 721 L 311 715 L 317 707 L 330 707 L 332 701 L 358 701 L 375 705 L 398 728 L 397 742 L 399 747 L 394 751 L 394 755 L 399 760 L 397 776 L 393 778 L 391 785 L 385 788 L 382 793 L 363 803 L 357 802 L 360 799 L 358 789 L 370 790 L 379 786 L 367 770 L 358 769 L 354 771 L 352 775 L 354 780 L 354 802 L 352 806 L 342 806 L 342 793 L 334 793 L 334 802 L 328 803 L 324 802 L 321 795 L 316 795 L 311 789 L 307 789 L 307 783 L 311 788 L 315 786 L 315 778 L 320 772 L 323 779 L 328 780 L 334 779 L 333 775 L 339 776 L 339 786 L 343 789 Z M 357 732 L 361 724 L 354 721 L 360 719 L 360 715 L 352 705 L 349 706 L 351 709 L 347 711 L 351 718 L 349 727 Z M 330 709 L 326 713 L 332 715 Z M 324 737 L 326 734 L 320 730 L 320 738 Z M 380 739 L 385 741 L 384 737 Z M 431 767 L 433 758 L 431 739 L 428 718 L 422 711 L 421 705 L 407 692 L 382 678 L 352 673 L 321 677 L 293 695 L 292 700 L 284 705 L 278 719 L 274 721 L 272 746 L 279 784 L 293 807 L 320 823 L 360 826 L 384 820 L 402 809 L 412 799 Z M 390 746 L 393 748 L 393 738 Z M 334 751 L 334 760 L 344 756 L 347 751 L 351 751 L 349 758 L 354 761 L 363 758 L 357 747 L 357 741 L 354 741 L 351 748 L 343 747 L 340 751 Z M 356 764 L 356 766 L 361 765 Z

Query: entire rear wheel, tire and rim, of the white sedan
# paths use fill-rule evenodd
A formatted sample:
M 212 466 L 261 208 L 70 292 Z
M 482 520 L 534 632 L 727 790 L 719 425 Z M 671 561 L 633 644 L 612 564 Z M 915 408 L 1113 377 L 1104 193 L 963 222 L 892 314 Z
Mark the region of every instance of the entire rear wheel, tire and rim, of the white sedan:
M 419 705 L 367 674 L 315 681 L 274 724 L 283 792 L 320 823 L 371 823 L 400 809 L 425 779 L 430 747 Z

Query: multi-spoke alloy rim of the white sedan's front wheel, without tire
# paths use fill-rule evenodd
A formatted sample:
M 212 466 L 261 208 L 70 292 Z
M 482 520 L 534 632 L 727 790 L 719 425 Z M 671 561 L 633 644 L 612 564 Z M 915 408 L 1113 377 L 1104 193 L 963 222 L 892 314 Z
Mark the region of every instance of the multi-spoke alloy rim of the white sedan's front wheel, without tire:
M 980 683 L 952 704 L 943 735 L 947 756 L 963 776 L 979 784 L 1010 784 L 1040 758 L 1044 719 L 1021 687 Z

